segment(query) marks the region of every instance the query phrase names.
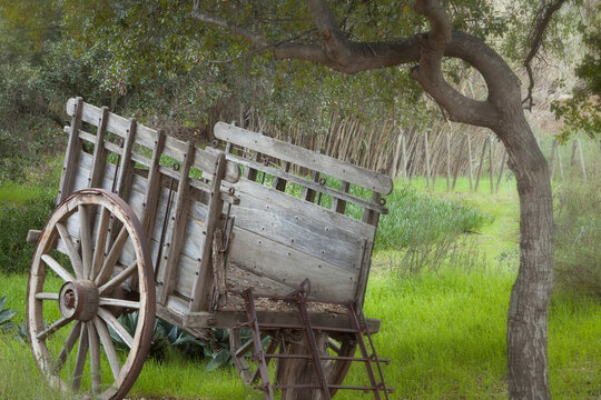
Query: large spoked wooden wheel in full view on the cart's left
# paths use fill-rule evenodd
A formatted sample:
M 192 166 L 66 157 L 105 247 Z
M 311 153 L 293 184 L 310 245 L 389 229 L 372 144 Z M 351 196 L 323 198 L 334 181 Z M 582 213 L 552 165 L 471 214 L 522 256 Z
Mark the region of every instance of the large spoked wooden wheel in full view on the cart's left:
M 125 296 L 127 284 L 139 294 Z M 128 330 L 117 317 L 131 311 L 138 318 Z M 86 189 L 58 206 L 31 262 L 27 320 L 52 387 L 98 399 L 129 391 L 150 347 L 155 286 L 144 230 L 125 201 Z

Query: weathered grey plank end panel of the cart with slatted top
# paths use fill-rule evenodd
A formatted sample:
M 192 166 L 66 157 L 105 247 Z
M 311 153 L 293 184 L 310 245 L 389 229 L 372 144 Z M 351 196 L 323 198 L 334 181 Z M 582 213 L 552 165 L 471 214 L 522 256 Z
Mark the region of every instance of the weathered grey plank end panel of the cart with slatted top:
M 392 180 L 231 124 L 214 131 L 245 169 L 229 261 L 290 290 L 308 278 L 317 301 L 363 301 Z

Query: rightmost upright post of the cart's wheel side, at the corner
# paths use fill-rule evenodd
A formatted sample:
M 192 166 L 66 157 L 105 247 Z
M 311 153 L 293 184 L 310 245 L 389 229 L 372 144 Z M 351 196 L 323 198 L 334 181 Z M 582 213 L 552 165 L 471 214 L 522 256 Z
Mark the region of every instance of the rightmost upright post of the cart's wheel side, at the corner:
M 213 250 L 213 233 L 221 210 L 224 202 L 219 197 L 219 190 L 221 188 L 221 179 L 225 173 L 226 157 L 225 153 L 217 156 L 217 166 L 215 168 L 215 176 L 213 177 L 213 190 L 208 203 L 208 213 L 205 221 L 205 243 L 203 248 L 203 256 L 198 270 L 198 277 L 196 277 L 193 287 L 193 299 L 190 300 L 190 312 L 205 311 L 208 309 L 209 296 L 213 289 L 213 267 L 211 267 L 211 250 Z

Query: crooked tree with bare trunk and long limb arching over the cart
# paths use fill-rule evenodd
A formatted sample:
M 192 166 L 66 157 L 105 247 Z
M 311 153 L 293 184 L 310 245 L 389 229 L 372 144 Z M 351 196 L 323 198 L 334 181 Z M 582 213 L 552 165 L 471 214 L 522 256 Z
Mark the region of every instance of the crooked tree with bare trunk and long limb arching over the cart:
M 348 2 L 356 3 L 363 2 Z M 255 11 L 253 20 L 243 26 L 219 14 L 215 4 L 198 0 L 190 16 L 246 39 L 254 51 L 269 51 L 275 60 L 304 60 L 349 74 L 412 63 L 411 77 L 450 120 L 489 128 L 496 134 L 509 153 L 520 196 L 520 269 L 508 312 L 510 398 L 549 399 L 546 344 L 553 210 L 548 164 L 524 116 L 520 79 L 481 38 L 455 30 L 445 8 L 436 0 L 415 1 L 414 10 L 427 20 L 430 31 L 387 41 L 357 40 L 349 33 L 346 17 L 341 22 L 325 0 L 306 0 L 305 6 L 313 36 L 297 31 L 276 38 L 269 28 L 264 28 L 274 21 L 268 12 Z M 372 21 L 368 28 L 377 30 L 376 22 Z M 544 28 L 542 23 L 541 31 Z M 447 58 L 462 60 L 481 73 L 487 88 L 485 99 L 466 97 L 450 84 L 442 68 Z

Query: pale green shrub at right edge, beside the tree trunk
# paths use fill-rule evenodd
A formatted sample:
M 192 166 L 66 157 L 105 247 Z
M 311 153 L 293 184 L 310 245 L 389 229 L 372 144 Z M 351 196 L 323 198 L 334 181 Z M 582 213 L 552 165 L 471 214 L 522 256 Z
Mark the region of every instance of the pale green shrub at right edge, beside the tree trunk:
M 571 183 L 555 200 L 555 282 L 601 299 L 601 184 Z

